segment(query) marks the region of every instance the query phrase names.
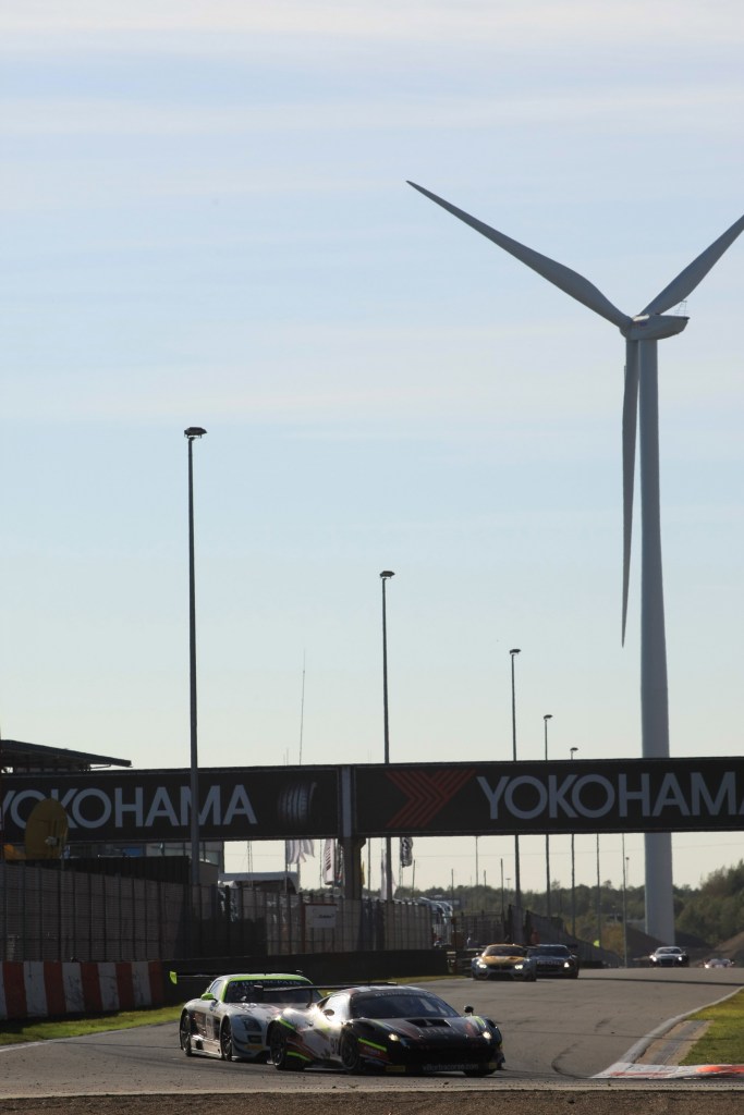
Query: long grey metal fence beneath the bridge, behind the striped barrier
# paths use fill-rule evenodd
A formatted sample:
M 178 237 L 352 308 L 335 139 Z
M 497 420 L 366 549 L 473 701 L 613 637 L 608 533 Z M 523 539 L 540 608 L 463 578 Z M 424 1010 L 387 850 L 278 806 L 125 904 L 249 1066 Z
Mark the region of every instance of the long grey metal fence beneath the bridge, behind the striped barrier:
M 427 949 L 415 902 L 187 886 L 0 862 L 1 960 L 162 960 Z

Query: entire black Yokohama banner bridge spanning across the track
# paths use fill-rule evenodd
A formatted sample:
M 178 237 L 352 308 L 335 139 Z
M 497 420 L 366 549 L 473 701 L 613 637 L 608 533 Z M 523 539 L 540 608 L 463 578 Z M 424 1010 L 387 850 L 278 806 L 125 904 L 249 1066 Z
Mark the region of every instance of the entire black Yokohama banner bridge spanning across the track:
M 187 841 L 190 773 L 3 775 L 6 840 L 56 798 L 69 843 Z M 744 827 L 744 758 L 223 767 L 199 774 L 202 840 Z

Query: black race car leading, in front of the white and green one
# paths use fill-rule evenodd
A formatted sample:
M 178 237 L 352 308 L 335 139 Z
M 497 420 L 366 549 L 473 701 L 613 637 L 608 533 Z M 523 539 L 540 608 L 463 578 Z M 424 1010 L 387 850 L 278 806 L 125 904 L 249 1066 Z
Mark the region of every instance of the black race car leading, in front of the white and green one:
M 347 1073 L 464 1073 L 490 1076 L 504 1064 L 490 1018 L 417 987 L 370 985 L 334 991 L 306 1010 L 287 1007 L 269 1027 L 278 1069 L 312 1065 Z

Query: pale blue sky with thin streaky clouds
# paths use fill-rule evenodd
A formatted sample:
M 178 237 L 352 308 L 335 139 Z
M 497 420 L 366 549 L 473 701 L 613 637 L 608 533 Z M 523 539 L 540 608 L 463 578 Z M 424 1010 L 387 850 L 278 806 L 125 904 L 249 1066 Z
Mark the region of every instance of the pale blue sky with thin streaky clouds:
M 203 765 L 381 762 L 381 570 L 392 762 L 510 758 L 515 647 L 519 757 L 545 714 L 555 758 L 640 757 L 622 338 L 406 181 L 637 313 L 744 212 L 743 47 L 738 0 L 3 0 L 3 736 L 189 765 L 196 425 Z M 744 237 L 659 346 L 680 758 L 742 750 L 743 281 Z M 742 857 L 677 835 L 675 882 Z

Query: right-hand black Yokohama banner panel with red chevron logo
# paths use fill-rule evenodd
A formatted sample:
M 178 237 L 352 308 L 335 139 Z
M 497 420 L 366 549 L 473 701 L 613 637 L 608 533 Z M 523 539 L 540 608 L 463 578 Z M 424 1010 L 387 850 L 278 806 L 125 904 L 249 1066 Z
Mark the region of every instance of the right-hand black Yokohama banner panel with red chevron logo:
M 744 759 L 356 768 L 360 836 L 744 827 Z

